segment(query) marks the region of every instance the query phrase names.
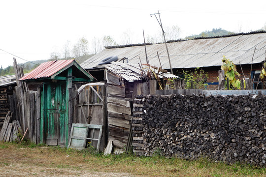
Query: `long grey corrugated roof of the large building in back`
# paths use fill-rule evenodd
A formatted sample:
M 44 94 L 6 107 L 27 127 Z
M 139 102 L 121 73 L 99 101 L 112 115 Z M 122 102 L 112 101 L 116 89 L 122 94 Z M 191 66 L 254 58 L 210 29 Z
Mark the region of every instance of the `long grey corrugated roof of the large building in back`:
M 266 32 L 247 33 L 224 37 L 203 38 L 167 43 L 172 68 L 194 68 L 206 66 L 221 66 L 223 56 L 232 60 L 235 64 L 251 63 L 256 47 L 253 63 L 259 63 L 265 59 Z M 164 69 L 169 69 L 169 62 L 166 53 L 166 45 L 147 45 L 149 63 L 157 67 L 160 62 Z M 144 46 L 131 46 L 121 48 L 108 48 L 87 59 L 81 66 L 85 69 L 93 68 L 102 59 L 110 56 L 118 56 L 118 60 L 128 58 L 129 63 L 146 63 Z

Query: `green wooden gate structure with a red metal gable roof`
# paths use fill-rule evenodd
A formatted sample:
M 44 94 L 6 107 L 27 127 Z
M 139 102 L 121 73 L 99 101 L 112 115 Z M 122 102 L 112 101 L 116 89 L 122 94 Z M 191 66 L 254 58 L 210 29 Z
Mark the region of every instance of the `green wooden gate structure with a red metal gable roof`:
M 55 60 L 40 64 L 20 81 L 41 83 L 40 143 L 68 145 L 73 115 L 69 116 L 69 90 L 74 82 L 91 82 L 93 77 L 73 59 Z

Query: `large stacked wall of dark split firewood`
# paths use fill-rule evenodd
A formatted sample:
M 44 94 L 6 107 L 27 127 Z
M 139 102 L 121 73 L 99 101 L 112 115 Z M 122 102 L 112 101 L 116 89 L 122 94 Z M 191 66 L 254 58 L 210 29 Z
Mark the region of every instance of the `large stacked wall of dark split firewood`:
M 133 147 L 146 156 L 266 164 L 265 95 L 150 95 L 133 109 Z

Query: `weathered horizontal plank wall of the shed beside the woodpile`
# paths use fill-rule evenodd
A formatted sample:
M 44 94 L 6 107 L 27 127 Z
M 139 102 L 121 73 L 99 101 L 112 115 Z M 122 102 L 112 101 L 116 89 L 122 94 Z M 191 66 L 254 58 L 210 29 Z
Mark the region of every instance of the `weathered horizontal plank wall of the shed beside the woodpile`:
M 112 140 L 114 146 L 126 147 L 130 132 L 132 107 L 129 100 L 142 91 L 136 82 L 125 84 L 124 80 L 111 71 L 106 72 L 107 79 L 107 116 L 108 116 L 108 141 Z M 126 88 L 133 86 L 131 88 Z M 143 91 L 142 91 L 143 92 Z M 127 93 L 127 94 L 126 94 Z

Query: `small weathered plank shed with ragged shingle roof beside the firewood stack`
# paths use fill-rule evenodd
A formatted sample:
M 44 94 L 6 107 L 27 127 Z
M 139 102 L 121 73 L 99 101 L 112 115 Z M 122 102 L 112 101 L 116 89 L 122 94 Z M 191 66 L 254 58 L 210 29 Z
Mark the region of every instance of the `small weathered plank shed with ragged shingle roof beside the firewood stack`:
M 162 73 L 153 70 L 163 78 Z M 146 82 L 139 65 L 129 63 L 111 62 L 87 71 L 98 81 L 105 83 L 106 140 L 113 141 L 113 145 L 117 148 L 125 148 L 131 132 L 133 99 L 136 95 L 149 94 L 152 88 L 156 90 L 156 82 L 152 82 L 155 80 Z M 170 73 L 164 73 L 164 77 L 178 78 Z M 155 86 L 150 86 L 149 83 L 151 85 L 155 83 Z

